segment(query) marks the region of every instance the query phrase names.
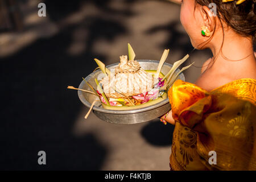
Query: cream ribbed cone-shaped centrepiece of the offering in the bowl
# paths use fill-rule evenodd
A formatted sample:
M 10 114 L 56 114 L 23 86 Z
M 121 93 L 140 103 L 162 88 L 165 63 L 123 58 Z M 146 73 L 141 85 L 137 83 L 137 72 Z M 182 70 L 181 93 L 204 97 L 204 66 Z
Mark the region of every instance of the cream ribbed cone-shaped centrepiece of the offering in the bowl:
M 144 71 L 137 61 L 128 61 L 127 56 L 120 56 L 118 67 L 100 83 L 106 97 L 126 98 L 149 92 L 154 87 L 154 77 Z

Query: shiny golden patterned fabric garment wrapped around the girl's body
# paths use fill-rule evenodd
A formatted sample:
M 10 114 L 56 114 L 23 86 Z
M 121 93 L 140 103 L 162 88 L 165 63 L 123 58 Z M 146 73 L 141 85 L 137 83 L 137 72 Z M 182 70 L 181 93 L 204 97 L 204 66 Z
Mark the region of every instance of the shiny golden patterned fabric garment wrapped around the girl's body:
M 173 170 L 256 170 L 256 80 L 242 78 L 210 92 L 181 80 L 168 91 L 176 121 Z M 210 151 L 217 164 L 210 164 Z

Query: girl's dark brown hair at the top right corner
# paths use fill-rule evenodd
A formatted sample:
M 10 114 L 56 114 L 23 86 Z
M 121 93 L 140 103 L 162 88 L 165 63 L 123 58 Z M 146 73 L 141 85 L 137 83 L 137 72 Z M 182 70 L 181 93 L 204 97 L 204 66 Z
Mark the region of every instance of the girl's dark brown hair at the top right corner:
M 217 6 L 217 17 L 220 21 L 225 21 L 237 34 L 252 37 L 253 43 L 256 39 L 256 0 L 246 0 L 240 5 L 237 1 L 222 2 L 221 0 L 195 0 L 202 6 L 209 6 L 215 3 Z M 222 26 L 223 28 L 223 26 Z

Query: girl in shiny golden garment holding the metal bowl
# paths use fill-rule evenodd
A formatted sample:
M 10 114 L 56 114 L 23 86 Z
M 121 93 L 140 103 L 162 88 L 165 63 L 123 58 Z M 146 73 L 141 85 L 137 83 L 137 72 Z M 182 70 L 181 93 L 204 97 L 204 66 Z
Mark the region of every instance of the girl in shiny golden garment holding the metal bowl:
M 171 170 L 256 170 L 255 2 L 181 1 L 192 46 L 213 57 L 195 84 L 168 90 L 172 110 L 160 118 L 175 125 Z

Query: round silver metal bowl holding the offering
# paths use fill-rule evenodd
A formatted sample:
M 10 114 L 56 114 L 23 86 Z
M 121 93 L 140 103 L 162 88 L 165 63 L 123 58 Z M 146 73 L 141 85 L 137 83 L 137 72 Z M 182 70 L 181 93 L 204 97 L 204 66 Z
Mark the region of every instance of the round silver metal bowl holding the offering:
M 143 69 L 151 69 L 156 70 L 159 64 L 159 61 L 155 60 L 137 60 Z M 117 67 L 118 63 L 110 64 L 106 66 L 106 68 L 112 69 Z M 172 65 L 169 63 L 164 63 L 161 72 L 166 75 L 168 71 L 170 71 Z M 176 70 L 175 74 L 179 72 L 179 69 Z M 101 73 L 101 70 L 98 69 L 97 71 L 90 73 L 85 80 L 89 82 L 93 88 L 97 88 L 96 83 L 94 82 L 94 78 Z M 183 73 L 181 73 L 177 79 L 185 81 L 185 77 Z M 91 90 L 89 86 L 82 81 L 79 85 L 79 89 Z M 93 94 L 85 93 L 78 91 L 79 98 L 87 107 L 90 107 L 93 101 L 97 98 Z M 117 123 L 117 124 L 135 124 L 135 123 L 142 123 L 146 121 L 150 121 L 161 115 L 167 113 L 171 109 L 171 105 L 169 103 L 168 98 L 163 101 L 160 101 L 154 105 L 142 107 L 139 109 L 131 109 L 131 110 L 109 110 L 104 109 L 100 102 L 96 102 L 93 106 L 93 113 L 100 119 L 110 123 Z

